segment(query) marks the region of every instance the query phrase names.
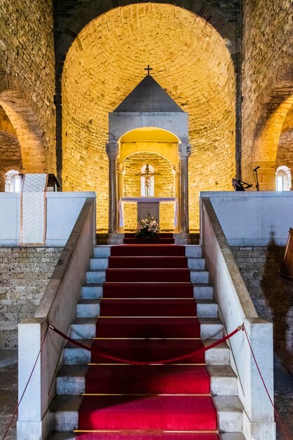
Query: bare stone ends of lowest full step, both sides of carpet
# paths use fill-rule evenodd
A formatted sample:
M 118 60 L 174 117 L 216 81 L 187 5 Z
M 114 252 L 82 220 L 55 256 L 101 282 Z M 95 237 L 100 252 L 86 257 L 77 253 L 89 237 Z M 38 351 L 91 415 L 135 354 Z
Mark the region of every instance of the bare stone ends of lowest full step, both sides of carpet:
M 243 406 L 237 396 L 214 396 L 219 430 L 242 432 Z M 50 405 L 50 426 L 54 431 L 73 431 L 79 423 L 82 396 L 55 396 Z

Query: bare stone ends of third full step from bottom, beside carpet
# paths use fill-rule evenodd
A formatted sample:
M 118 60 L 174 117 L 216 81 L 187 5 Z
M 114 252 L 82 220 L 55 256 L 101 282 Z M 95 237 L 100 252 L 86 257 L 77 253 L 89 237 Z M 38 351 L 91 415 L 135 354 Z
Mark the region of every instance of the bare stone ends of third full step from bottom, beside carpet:
M 81 344 L 91 347 L 92 339 L 79 339 Z M 203 345 L 207 347 L 213 344 L 215 339 L 203 339 Z M 73 343 L 69 342 L 64 348 L 64 364 L 65 365 L 86 365 L 90 362 L 90 351 L 81 349 Z M 210 350 L 205 351 L 205 363 L 207 365 L 229 365 L 230 351 L 226 342 L 222 342 Z

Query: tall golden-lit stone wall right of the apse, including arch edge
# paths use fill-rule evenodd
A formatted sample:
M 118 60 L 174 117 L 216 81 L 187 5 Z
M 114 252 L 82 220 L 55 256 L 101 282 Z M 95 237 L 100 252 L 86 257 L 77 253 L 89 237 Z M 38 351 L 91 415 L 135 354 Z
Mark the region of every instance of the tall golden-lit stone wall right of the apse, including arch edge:
M 279 138 L 292 106 L 292 20 L 290 0 L 244 2 L 243 179 L 252 181 L 261 165 L 260 189 L 275 188 Z

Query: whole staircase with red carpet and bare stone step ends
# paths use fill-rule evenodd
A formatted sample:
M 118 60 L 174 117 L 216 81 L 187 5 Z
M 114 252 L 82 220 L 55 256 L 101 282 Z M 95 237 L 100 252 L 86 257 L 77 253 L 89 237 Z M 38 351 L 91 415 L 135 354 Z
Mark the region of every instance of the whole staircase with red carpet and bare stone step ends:
M 223 335 L 200 246 L 125 241 L 95 248 L 71 325 L 92 353 L 64 349 L 50 438 L 244 439 L 227 345 L 174 360 Z

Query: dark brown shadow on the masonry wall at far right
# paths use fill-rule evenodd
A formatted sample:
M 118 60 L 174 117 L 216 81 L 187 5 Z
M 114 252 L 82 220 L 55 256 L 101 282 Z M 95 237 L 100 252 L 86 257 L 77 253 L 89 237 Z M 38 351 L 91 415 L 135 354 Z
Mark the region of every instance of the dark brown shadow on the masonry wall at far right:
M 273 320 L 273 344 L 287 370 L 293 369 L 293 353 L 289 351 L 293 340 L 293 281 L 280 276 L 285 247 L 275 243 L 274 233 L 268 243 L 261 278 L 262 296 L 271 310 Z

